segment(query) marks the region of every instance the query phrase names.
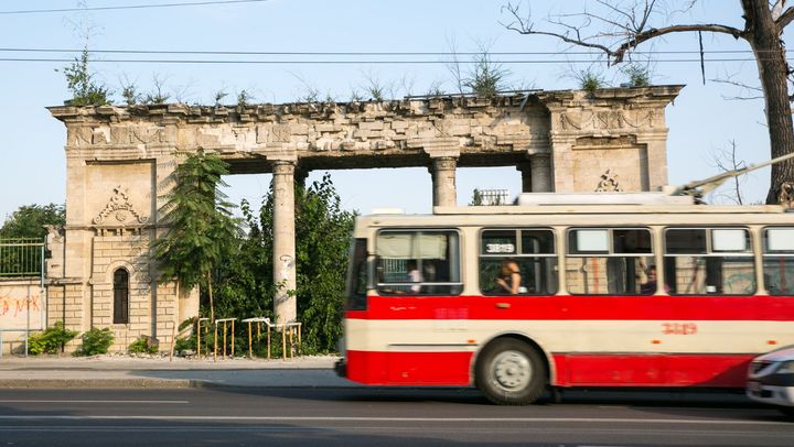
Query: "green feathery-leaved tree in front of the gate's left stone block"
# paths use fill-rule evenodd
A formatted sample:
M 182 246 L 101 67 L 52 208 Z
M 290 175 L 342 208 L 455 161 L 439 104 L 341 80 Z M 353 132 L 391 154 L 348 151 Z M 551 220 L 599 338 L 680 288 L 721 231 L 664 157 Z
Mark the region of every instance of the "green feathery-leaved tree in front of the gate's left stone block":
M 228 165 L 217 154 L 198 152 L 187 156 L 174 171 L 174 188 L 165 196 L 160 212 L 168 230 L 152 247 L 161 282 L 198 286 L 207 293 L 210 320 L 215 321 L 212 272 L 222 260 L 233 258 L 240 233 L 234 207 L 218 188 Z

